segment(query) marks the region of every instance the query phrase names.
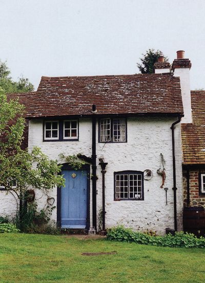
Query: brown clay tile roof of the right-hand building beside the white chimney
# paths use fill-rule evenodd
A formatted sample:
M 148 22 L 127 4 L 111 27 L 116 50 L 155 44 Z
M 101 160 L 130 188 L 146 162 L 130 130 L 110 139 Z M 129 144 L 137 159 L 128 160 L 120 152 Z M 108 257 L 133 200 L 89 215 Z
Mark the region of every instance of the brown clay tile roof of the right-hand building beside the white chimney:
M 191 91 L 193 124 L 181 124 L 183 164 L 205 164 L 205 91 Z

